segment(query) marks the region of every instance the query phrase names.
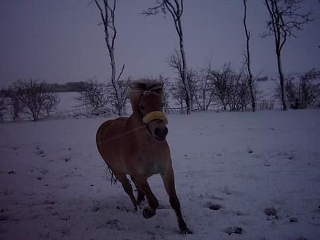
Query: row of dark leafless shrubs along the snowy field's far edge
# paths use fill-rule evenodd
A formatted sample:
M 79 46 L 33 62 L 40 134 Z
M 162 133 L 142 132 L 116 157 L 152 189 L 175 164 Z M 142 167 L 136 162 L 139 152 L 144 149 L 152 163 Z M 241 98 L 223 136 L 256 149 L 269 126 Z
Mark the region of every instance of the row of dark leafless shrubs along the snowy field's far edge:
M 176 81 L 159 75 L 149 79 L 163 81 L 163 110 L 166 113 L 187 111 L 185 86 L 178 77 Z M 250 101 L 248 73 L 244 67 L 233 68 L 230 63 L 220 69 L 213 69 L 211 64 L 204 68 L 187 71 L 187 81 L 190 85 L 191 111 L 206 111 L 208 109 L 223 109 L 224 111 L 243 111 L 252 108 Z M 173 80 L 173 79 L 172 79 Z M 261 81 L 265 80 L 264 78 Z M 46 83 L 41 80 L 27 79 L 12 83 L 9 88 L 1 90 L 0 121 L 5 116 L 16 121 L 22 117 L 37 121 L 48 118 L 55 112 L 59 97 L 57 92 L 78 92 L 75 98 L 78 108 L 84 109 L 83 115 L 106 116 L 117 114 L 120 106 L 126 106 L 129 99 L 126 90 L 131 84 L 131 78 L 118 80 L 120 104 L 113 85 L 99 83 L 96 79 L 66 84 Z M 64 86 L 67 88 L 59 89 Z M 256 86 L 257 87 L 257 86 Z M 320 107 L 320 71 L 312 69 L 301 75 L 299 79 L 286 77 L 284 88 L 288 96 L 289 107 L 304 109 Z M 254 89 L 258 109 L 273 109 L 274 100 L 260 98 L 261 90 Z M 280 85 L 274 96 L 281 100 Z M 124 108 L 125 111 L 125 108 Z M 126 113 L 124 113 L 126 114 Z

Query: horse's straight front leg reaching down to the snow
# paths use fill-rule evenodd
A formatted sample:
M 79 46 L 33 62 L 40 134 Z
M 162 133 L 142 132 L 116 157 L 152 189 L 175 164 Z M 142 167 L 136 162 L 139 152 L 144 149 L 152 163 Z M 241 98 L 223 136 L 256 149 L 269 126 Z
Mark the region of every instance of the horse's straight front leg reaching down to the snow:
M 178 200 L 178 196 L 176 196 L 176 187 L 174 186 L 174 171 L 172 169 L 172 166 L 166 169 L 165 172 L 161 174 L 161 177 L 165 185 L 165 191 L 167 191 L 170 198 L 170 205 L 176 212 L 178 226 L 181 230 L 181 234 L 191 234 L 192 231 L 187 228 L 187 224 L 185 224 L 185 220 L 183 219 L 183 215 L 181 214 L 181 206 Z

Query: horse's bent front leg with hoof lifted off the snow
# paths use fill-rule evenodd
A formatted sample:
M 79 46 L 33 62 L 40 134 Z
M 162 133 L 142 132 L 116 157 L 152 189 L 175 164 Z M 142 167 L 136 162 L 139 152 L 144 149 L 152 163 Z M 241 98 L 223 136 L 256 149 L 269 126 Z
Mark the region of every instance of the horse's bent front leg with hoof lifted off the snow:
M 156 209 L 159 206 L 159 202 L 155 195 L 152 193 L 150 186 L 145 176 L 132 176 L 137 187 L 144 193 L 148 200 L 149 206 L 142 212 L 145 218 L 153 217 L 156 213 Z

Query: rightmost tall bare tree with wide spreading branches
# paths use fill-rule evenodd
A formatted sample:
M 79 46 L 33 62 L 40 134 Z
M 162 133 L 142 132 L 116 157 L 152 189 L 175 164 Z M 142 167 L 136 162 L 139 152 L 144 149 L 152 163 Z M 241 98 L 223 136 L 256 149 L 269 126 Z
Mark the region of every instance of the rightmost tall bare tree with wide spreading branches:
M 302 31 L 304 25 L 312 21 L 311 12 L 302 12 L 304 0 L 265 0 L 269 12 L 267 21 L 268 32 L 263 35 L 274 35 L 276 42 L 276 55 L 278 60 L 278 72 L 280 77 L 280 90 L 283 110 L 288 109 L 286 103 L 286 90 L 284 88 L 284 73 L 282 69 L 282 48 L 287 38 L 293 36 L 294 31 Z

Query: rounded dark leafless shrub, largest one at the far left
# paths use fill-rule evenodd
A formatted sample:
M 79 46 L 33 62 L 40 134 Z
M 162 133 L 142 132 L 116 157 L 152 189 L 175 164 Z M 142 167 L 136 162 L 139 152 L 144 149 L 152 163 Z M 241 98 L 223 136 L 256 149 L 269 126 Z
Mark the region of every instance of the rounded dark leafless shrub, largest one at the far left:
M 59 103 L 57 94 L 51 91 L 44 81 L 29 79 L 21 82 L 21 102 L 25 107 L 25 114 L 38 121 L 50 112 Z

